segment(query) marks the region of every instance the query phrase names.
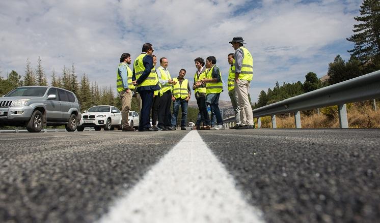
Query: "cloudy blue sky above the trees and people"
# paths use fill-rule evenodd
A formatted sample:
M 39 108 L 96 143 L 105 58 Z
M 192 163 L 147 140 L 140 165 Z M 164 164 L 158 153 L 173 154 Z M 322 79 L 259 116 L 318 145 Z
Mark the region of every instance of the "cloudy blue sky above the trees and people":
M 354 16 L 362 1 L 20 1 L 0 2 L 0 71 L 24 75 L 26 58 L 45 74 L 72 63 L 99 86 L 116 88 L 120 55 L 132 60 L 144 43 L 167 57 L 172 77 L 181 68 L 193 79 L 194 58 L 213 55 L 227 81 L 229 41 L 241 36 L 254 58 L 251 98 L 276 81 L 304 81 L 327 73 L 337 54 L 348 60 Z M 192 82 L 192 81 L 191 81 Z M 229 100 L 227 89 L 221 99 Z M 195 100 L 194 98 L 192 100 Z

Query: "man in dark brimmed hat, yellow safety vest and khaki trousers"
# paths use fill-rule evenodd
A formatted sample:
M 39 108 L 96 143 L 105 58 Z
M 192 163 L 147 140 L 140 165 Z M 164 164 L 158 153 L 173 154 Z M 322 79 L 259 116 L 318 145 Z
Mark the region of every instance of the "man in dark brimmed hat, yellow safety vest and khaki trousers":
M 235 58 L 231 72 L 235 73 L 235 89 L 240 106 L 241 124 L 237 129 L 254 129 L 252 107 L 249 101 L 250 83 L 253 77 L 253 59 L 242 37 L 234 37 L 231 42 L 235 50 Z

